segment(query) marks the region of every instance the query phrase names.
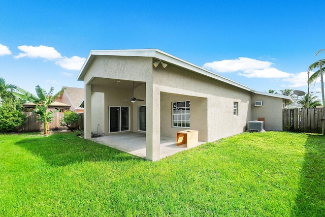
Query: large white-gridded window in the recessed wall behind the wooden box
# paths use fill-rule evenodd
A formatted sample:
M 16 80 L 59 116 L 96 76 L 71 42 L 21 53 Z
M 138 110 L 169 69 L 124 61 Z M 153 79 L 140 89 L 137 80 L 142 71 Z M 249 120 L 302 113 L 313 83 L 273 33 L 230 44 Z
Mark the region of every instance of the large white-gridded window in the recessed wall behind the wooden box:
M 189 128 L 189 100 L 173 102 L 173 127 Z

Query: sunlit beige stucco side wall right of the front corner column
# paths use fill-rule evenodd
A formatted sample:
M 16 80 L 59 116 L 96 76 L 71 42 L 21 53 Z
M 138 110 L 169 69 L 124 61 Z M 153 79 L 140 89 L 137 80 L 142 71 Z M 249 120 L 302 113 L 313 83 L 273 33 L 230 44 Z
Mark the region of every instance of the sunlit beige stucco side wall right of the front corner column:
M 190 114 L 191 129 L 192 126 L 207 126 L 207 136 L 203 141 L 215 141 L 220 138 L 242 133 L 246 130 L 246 122 L 251 119 L 251 96 L 248 91 L 173 65 L 169 65 L 166 69 L 162 67 L 154 68 L 153 82 L 159 84 L 159 90 L 161 92 L 185 95 L 184 97 L 181 97 L 184 99 L 189 97 L 206 99 L 204 100 L 206 101 L 206 105 L 202 103 L 202 107 L 200 108 L 207 114 L 205 119 L 198 118 L 196 120 L 193 118 L 192 114 Z M 177 95 L 175 98 L 179 98 Z M 170 105 L 173 101 L 170 96 L 173 95 L 169 95 L 168 98 L 165 94 L 161 95 L 161 102 L 168 100 L 166 103 L 167 105 Z M 234 102 L 238 102 L 239 104 L 238 115 L 233 114 Z M 163 108 L 164 106 L 162 103 L 161 109 Z M 163 113 L 164 115 L 167 115 L 164 116 L 164 118 L 168 120 L 172 118 L 171 114 L 168 112 L 163 111 Z M 198 117 L 203 116 L 204 114 L 198 114 Z M 163 118 L 163 114 L 161 114 L 161 118 Z M 200 123 L 196 123 L 196 121 Z M 169 122 L 166 123 L 165 120 L 162 120 L 161 133 L 173 135 L 175 134 L 175 131 L 179 130 L 177 128 L 168 129 L 168 126 L 171 126 L 169 125 Z

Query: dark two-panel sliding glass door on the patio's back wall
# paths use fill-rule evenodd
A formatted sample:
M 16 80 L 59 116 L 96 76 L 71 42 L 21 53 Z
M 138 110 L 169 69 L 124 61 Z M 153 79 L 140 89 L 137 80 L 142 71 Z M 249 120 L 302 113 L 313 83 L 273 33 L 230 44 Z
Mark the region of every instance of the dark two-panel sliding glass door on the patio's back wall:
M 129 130 L 129 107 L 109 107 L 109 132 L 121 132 Z

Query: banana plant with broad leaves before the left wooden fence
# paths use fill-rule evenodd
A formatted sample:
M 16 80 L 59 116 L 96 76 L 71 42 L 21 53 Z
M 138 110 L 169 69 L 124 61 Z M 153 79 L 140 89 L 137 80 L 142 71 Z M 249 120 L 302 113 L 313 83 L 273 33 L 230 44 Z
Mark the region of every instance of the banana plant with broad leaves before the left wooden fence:
M 53 103 L 63 94 L 64 88 L 53 95 L 53 87 L 51 87 L 50 91 L 47 93 L 44 89 L 37 85 L 35 87 L 37 96 L 20 87 L 17 87 L 17 89 L 19 93 L 15 92 L 15 96 L 19 97 L 22 100 L 36 104 L 36 110 L 34 110 L 34 112 L 39 115 L 38 120 L 41 120 L 44 124 L 44 134 L 49 134 L 49 123 L 53 120 L 54 116 L 53 111 L 48 111 L 47 109 L 51 103 Z

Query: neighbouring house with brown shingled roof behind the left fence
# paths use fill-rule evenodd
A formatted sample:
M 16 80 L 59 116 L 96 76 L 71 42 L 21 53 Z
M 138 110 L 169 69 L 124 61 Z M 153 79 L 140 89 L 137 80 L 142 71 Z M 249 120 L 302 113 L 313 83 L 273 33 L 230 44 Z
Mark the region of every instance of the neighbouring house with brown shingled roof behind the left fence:
M 71 105 L 70 111 L 74 111 L 76 113 L 83 113 L 84 109 L 82 107 L 84 89 L 77 87 L 65 87 L 63 94 L 56 100 L 56 102 L 69 104 Z

